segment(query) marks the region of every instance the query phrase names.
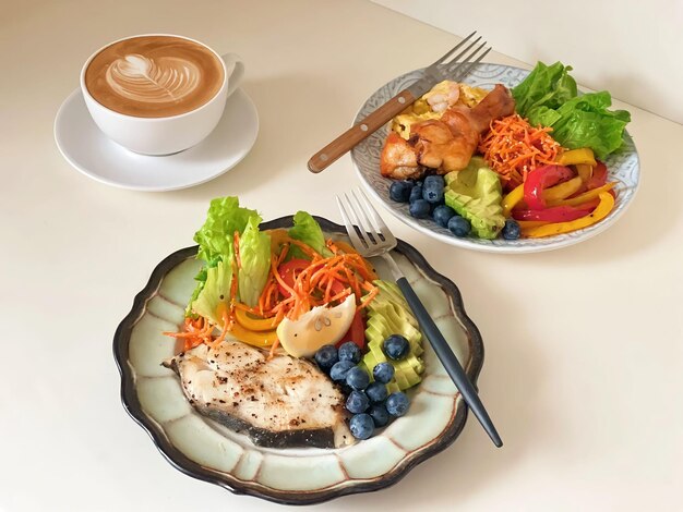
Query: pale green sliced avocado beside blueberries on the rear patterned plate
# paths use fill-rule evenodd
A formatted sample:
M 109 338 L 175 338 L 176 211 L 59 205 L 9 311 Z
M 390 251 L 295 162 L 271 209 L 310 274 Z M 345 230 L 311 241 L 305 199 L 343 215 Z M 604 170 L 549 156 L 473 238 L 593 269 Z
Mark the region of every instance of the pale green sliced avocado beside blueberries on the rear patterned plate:
M 446 205 L 469 220 L 480 239 L 495 239 L 505 225 L 503 188 L 498 173 L 481 157 L 467 168 L 446 174 Z

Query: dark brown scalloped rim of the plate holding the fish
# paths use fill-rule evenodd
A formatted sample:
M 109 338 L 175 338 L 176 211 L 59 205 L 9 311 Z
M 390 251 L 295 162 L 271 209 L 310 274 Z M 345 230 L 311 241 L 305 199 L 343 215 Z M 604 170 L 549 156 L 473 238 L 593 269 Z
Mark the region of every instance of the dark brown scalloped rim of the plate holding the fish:
M 346 234 L 345 227 L 332 222 L 323 217 L 313 216 L 313 218 L 321 224 L 323 231 L 328 233 Z M 290 227 L 292 224 L 292 219 L 293 216 L 280 217 L 263 222 L 260 228 L 265 230 Z M 397 242 L 398 244 L 395 251 L 406 256 L 430 280 L 442 287 L 444 293 L 448 296 L 448 300 L 453 305 L 455 318 L 462 324 L 463 329 L 467 334 L 471 355 L 469 364 L 465 370 L 468 378 L 475 386 L 475 389 L 477 389 L 477 379 L 483 366 L 483 339 L 479 329 L 465 310 L 465 304 L 459 289 L 450 278 L 438 272 L 417 248 L 403 240 L 398 240 Z M 121 378 L 120 399 L 123 409 L 135 420 L 135 423 L 137 423 L 143 430 L 147 432 L 161 455 L 178 471 L 193 478 L 218 485 L 235 495 L 249 495 L 280 504 L 314 504 L 339 498 L 342 496 L 372 492 L 390 487 L 403 479 L 418 464 L 445 450 L 458 438 L 465 427 L 468 416 L 467 406 L 462 397 L 458 397 L 456 400 L 454 413 L 448 422 L 448 426 L 446 427 L 447 431 L 444 430 L 446 434 L 435 438 L 435 440 L 431 444 L 427 446 L 427 448 L 414 452 L 415 455 L 409 458 L 405 463 L 398 463 L 388 473 L 374 477 L 371 481 L 361 481 L 355 485 L 350 484 L 343 487 L 323 488 L 312 491 L 285 491 L 278 489 L 268 489 L 268 491 L 264 491 L 263 486 L 244 484 L 243 481 L 233 478 L 232 475 L 228 473 L 201 466 L 199 463 L 189 459 L 168 440 L 168 438 L 164 435 L 163 429 L 156 424 L 156 422 L 144 413 L 137 398 L 133 371 L 129 364 L 129 349 L 130 336 L 133 327 L 141 317 L 142 312 L 144 312 L 146 302 L 151 294 L 157 290 L 164 277 L 172 268 L 194 256 L 197 247 L 197 245 L 194 245 L 178 249 L 166 256 L 156 265 L 145 287 L 137 292 L 133 298 L 133 305 L 130 312 L 118 325 L 112 342 L 112 355 Z M 352 481 L 352 479 L 347 481 Z

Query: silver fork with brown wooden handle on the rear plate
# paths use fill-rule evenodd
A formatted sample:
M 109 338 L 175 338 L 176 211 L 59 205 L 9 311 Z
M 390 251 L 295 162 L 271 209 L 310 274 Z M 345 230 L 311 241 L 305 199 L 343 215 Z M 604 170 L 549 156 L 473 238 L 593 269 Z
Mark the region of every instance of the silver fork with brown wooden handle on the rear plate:
M 321 172 L 342 155 L 347 153 L 370 134 L 384 126 L 394 115 L 399 114 L 406 107 L 414 103 L 420 96 L 444 80 L 462 81 L 471 69 L 491 51 L 486 48 L 487 41 L 479 42 L 481 36 L 471 40 L 477 31 L 463 39 L 455 47 L 451 48 L 441 59 L 438 59 L 430 66 L 424 69 L 422 77 L 415 84 L 403 89 L 387 102 L 379 107 L 374 112 L 363 119 L 360 123 L 351 126 L 324 148 L 317 151 L 309 160 L 311 172 Z M 469 45 L 467 45 L 469 42 Z M 454 53 L 463 46 L 467 47 L 458 54 Z

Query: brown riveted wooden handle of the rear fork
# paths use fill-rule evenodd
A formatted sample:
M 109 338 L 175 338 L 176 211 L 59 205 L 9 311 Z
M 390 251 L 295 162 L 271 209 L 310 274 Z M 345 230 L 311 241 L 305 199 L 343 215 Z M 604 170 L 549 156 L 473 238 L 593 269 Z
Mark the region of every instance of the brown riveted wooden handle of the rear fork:
M 309 160 L 309 171 L 317 173 L 327 169 L 327 166 L 337 160 L 342 155 L 351 149 L 363 138 L 368 137 L 371 133 L 384 126 L 390 119 L 403 112 L 405 108 L 415 100 L 416 98 L 408 89 L 402 90 L 360 123 L 351 126 L 313 155 Z

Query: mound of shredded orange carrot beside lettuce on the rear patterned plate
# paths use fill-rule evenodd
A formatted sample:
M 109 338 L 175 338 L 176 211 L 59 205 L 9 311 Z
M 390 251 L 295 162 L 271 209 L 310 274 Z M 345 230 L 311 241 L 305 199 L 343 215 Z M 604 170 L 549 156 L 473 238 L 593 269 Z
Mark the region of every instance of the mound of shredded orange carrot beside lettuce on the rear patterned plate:
M 562 146 L 550 132 L 551 127 L 534 127 L 515 113 L 491 122 L 479 151 L 500 174 L 503 187 L 512 190 L 524 183 L 529 171 L 555 162 Z

